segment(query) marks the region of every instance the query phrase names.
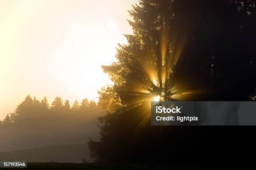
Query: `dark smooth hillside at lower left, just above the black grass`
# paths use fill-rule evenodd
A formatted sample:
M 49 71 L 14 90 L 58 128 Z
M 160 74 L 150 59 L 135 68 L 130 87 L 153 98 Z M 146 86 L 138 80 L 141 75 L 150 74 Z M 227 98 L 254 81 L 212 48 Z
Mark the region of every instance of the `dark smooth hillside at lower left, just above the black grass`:
M 28 162 L 82 163 L 90 160 L 87 144 L 56 145 L 44 148 L 0 152 L 0 160 L 23 160 Z

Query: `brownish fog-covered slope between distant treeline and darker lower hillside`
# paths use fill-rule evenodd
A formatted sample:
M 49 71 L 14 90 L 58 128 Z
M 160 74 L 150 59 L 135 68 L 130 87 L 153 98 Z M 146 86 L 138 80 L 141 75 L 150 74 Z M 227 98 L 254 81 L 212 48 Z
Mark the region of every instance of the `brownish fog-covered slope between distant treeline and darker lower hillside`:
M 89 138 L 99 138 L 97 117 L 93 120 L 59 120 L 44 125 L 0 128 L 0 152 L 29 148 L 41 148 L 53 145 L 86 144 Z M 71 123 L 72 122 L 72 123 Z

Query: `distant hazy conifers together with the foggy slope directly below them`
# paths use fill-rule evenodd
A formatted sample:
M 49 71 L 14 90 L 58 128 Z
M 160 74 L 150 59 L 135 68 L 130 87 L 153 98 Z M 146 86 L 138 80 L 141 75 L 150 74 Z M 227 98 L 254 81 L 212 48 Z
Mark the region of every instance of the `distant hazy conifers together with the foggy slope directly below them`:
M 97 117 L 104 115 L 94 100 L 69 100 L 57 96 L 51 104 L 46 97 L 28 95 L 13 113 L 0 121 L 0 151 L 38 148 L 52 145 L 85 144 L 98 139 Z M 82 159 L 82 158 L 81 158 Z

